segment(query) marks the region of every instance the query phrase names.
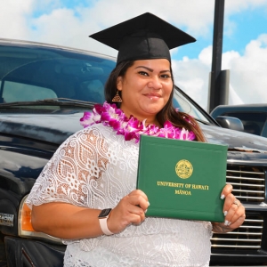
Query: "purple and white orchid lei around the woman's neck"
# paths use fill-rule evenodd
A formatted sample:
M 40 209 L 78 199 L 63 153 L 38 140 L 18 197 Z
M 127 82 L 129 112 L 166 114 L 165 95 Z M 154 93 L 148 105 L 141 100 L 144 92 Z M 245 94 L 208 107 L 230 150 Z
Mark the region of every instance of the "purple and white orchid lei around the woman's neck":
M 157 125 L 145 125 L 146 119 L 142 122 L 136 117 L 125 117 L 121 109 L 117 109 L 116 104 L 109 104 L 107 101 L 94 105 L 93 112 L 85 111 L 84 117 L 80 118 L 80 124 L 85 127 L 94 124 L 102 124 L 112 127 L 117 134 L 125 136 L 125 141 L 135 140 L 139 142 L 140 134 L 158 136 L 171 139 L 188 140 L 195 139 L 195 134 L 184 128 L 174 127 L 169 121 L 166 121 L 163 128 Z

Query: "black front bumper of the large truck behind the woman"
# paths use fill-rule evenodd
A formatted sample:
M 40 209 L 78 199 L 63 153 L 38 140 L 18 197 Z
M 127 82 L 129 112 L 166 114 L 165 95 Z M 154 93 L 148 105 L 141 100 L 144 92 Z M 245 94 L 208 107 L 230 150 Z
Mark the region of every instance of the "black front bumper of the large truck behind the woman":
M 9 267 L 62 267 L 66 246 L 47 244 L 33 239 L 5 237 L 7 266 Z M 267 254 L 212 253 L 210 266 L 265 266 Z

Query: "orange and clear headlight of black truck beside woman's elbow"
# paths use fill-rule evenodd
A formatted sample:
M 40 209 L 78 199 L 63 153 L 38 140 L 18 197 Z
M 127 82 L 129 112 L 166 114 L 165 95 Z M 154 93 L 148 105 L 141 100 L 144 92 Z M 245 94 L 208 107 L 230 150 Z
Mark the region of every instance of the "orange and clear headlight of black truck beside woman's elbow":
M 49 239 L 50 241 L 53 241 L 55 243 L 62 244 L 61 239 L 54 238 L 40 231 L 34 231 L 31 225 L 31 209 L 25 203 L 27 197 L 28 196 L 24 197 L 20 202 L 19 219 L 18 219 L 19 236 L 21 238 Z

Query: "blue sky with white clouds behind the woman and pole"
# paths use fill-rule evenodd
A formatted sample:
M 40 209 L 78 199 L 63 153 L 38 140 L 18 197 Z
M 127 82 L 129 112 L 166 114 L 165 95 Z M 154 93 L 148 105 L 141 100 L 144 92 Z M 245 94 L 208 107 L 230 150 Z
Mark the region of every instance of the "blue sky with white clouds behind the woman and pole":
M 0 0 L 0 38 L 117 56 L 89 35 L 151 12 L 197 41 L 171 50 L 174 82 L 207 110 L 215 0 Z M 229 104 L 267 103 L 267 0 L 224 0 Z

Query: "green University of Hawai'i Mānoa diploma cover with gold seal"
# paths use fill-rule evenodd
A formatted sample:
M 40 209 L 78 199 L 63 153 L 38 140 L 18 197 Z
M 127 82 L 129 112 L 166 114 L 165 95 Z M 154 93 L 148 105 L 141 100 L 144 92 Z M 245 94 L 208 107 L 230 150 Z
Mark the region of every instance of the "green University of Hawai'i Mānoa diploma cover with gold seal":
M 227 146 L 148 135 L 140 140 L 137 189 L 146 216 L 223 222 Z

